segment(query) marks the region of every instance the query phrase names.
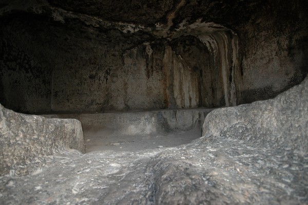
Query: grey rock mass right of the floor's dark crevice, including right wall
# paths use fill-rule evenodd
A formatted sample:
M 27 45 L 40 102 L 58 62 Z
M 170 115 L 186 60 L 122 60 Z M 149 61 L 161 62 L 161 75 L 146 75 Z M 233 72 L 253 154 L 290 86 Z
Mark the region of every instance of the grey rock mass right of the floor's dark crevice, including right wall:
M 211 111 L 202 138 L 162 152 L 148 165 L 152 200 L 307 202 L 307 102 L 308 77 L 275 99 Z

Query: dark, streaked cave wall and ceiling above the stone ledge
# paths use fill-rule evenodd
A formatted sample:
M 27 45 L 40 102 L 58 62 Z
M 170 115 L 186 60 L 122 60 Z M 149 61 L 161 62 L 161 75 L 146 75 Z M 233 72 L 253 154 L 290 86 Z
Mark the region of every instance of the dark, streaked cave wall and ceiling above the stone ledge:
M 0 103 L 28 114 L 232 106 L 308 73 L 302 0 L 2 0 L 0 39 Z

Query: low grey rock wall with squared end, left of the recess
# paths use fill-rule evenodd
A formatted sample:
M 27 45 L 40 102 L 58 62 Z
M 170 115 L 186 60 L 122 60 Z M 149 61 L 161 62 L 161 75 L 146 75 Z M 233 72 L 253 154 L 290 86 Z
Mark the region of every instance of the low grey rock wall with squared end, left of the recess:
M 24 115 L 0 104 L 0 176 L 39 169 L 46 156 L 72 148 L 85 152 L 81 123 Z

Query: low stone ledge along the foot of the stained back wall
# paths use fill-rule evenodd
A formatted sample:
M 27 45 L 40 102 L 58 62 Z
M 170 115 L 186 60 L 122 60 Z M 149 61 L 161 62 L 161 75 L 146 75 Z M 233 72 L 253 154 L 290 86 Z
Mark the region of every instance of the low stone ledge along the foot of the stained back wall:
M 46 118 L 78 119 L 83 131 L 100 132 L 104 136 L 156 135 L 202 128 L 206 115 L 213 108 L 161 109 L 127 113 L 58 114 Z

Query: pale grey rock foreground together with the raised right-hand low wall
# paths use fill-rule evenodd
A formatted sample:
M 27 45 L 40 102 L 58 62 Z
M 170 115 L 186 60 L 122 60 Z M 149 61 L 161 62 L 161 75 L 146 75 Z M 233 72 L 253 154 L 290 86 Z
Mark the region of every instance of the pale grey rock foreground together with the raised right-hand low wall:
M 1 204 L 306 204 L 308 78 L 273 100 L 216 109 L 203 137 L 142 152 L 73 150 L 0 178 Z

